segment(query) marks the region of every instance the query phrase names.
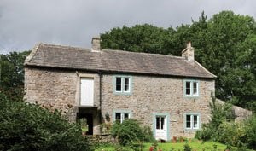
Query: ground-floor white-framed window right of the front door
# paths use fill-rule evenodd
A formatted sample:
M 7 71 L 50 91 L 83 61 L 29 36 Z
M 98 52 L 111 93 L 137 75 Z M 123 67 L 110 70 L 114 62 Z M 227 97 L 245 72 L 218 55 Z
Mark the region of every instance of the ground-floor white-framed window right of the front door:
M 191 130 L 199 129 L 199 115 L 198 114 L 186 114 L 185 128 L 191 129 Z

